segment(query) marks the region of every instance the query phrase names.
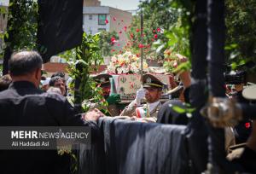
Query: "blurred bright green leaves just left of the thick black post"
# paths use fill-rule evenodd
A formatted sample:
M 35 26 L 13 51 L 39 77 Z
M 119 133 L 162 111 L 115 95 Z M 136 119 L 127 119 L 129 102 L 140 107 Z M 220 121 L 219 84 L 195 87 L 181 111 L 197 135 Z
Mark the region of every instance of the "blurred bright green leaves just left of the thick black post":
M 175 20 L 164 29 L 162 37 L 154 42 L 154 48 L 157 53 L 164 55 L 164 67 L 169 72 L 180 72 L 190 68 L 189 61 L 177 64 L 177 54 L 191 58 L 191 26 L 195 10 L 195 2 L 191 1 L 161 1 L 166 5 L 160 5 L 160 8 L 166 8 L 175 14 Z M 151 1 L 151 8 L 157 6 L 157 1 Z M 154 3 L 154 4 L 153 4 Z M 164 54 L 162 54 L 164 53 Z

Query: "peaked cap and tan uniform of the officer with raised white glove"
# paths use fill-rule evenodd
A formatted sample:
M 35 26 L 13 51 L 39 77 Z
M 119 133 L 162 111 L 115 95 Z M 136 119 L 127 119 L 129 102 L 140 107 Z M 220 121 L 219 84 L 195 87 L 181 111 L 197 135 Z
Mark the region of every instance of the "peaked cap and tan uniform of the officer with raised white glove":
M 143 88 L 163 88 L 164 84 L 160 82 L 158 78 L 155 78 L 151 74 L 143 75 Z M 137 118 L 154 118 L 157 119 L 161 107 L 160 101 L 154 103 L 146 103 L 143 106 L 139 106 L 137 101 L 131 102 L 120 114 L 121 116 L 137 116 Z

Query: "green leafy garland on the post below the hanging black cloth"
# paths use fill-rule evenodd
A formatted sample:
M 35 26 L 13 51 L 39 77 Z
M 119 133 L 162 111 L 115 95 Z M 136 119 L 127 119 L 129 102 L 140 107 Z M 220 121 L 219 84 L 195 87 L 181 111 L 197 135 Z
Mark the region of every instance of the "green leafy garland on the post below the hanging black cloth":
M 84 32 L 82 44 L 76 49 L 66 52 L 69 76 L 73 79 L 79 79 L 79 88 L 75 88 L 75 81 L 70 84 L 73 95 L 77 93 L 78 97 L 74 103 L 84 103 L 83 112 L 89 110 L 86 102 L 89 100 L 96 102 L 99 106 L 106 106 L 107 103 L 102 96 L 102 88 L 96 86 L 96 82 L 90 77 L 90 73 L 97 70 L 102 64 L 103 58 L 99 47 L 99 34 L 87 35 Z

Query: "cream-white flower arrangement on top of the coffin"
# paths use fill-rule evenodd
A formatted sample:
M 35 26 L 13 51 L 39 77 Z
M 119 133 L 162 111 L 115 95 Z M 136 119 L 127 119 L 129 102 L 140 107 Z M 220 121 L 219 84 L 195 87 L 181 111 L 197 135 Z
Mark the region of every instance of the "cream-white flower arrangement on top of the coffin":
M 108 73 L 139 73 L 141 67 L 140 58 L 130 51 L 124 54 L 113 55 L 108 66 Z M 143 62 L 143 69 L 148 68 L 148 64 Z

